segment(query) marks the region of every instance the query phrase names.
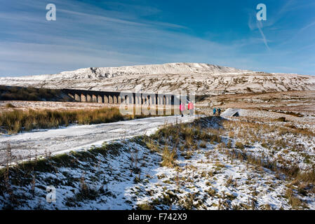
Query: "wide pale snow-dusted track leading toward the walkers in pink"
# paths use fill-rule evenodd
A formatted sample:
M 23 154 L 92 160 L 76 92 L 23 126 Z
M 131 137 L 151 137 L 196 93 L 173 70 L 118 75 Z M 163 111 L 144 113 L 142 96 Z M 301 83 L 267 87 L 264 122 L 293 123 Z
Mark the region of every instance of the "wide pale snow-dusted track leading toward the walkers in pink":
M 55 130 L 39 130 L 12 136 L 0 137 L 0 166 L 6 163 L 7 148 L 10 144 L 13 161 L 26 160 L 48 153 L 90 148 L 104 141 L 123 139 L 142 134 L 150 134 L 165 123 L 189 122 L 194 117 L 168 116 L 126 120 L 98 125 L 73 125 Z

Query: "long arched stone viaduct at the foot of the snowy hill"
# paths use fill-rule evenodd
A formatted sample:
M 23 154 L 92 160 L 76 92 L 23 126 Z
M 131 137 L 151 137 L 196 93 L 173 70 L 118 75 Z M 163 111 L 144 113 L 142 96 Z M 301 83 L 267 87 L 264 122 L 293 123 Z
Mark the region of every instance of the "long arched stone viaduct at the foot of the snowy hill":
M 174 94 L 154 94 L 143 92 L 103 92 L 94 90 L 62 89 L 76 102 L 95 102 L 100 104 L 147 104 L 147 105 L 180 105 L 186 96 Z

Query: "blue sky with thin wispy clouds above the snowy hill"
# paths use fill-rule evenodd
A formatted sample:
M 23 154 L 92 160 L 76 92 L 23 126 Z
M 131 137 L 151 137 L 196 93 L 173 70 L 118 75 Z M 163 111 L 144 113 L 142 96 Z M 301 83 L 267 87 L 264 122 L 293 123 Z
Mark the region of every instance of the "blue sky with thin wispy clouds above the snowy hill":
M 314 12 L 314 0 L 0 0 L 0 77 L 168 62 L 315 75 Z

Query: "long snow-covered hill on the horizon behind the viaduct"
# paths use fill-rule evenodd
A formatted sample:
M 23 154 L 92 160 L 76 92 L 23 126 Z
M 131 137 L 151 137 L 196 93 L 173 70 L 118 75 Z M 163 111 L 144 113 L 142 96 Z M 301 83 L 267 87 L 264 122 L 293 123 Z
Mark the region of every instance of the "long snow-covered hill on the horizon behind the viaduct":
M 0 78 L 0 85 L 73 88 L 82 90 L 135 90 L 197 94 L 315 90 L 314 76 L 264 73 L 202 63 L 86 68 L 53 75 Z

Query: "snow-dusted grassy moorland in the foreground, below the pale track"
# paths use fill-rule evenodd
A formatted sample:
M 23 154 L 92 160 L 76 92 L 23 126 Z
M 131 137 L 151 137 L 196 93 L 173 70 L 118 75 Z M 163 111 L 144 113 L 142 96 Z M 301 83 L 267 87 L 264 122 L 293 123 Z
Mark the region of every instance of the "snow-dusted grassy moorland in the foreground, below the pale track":
M 199 118 L 2 169 L 0 207 L 315 209 L 314 145 L 281 122 Z

